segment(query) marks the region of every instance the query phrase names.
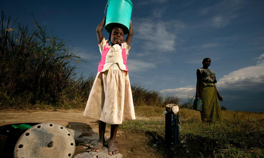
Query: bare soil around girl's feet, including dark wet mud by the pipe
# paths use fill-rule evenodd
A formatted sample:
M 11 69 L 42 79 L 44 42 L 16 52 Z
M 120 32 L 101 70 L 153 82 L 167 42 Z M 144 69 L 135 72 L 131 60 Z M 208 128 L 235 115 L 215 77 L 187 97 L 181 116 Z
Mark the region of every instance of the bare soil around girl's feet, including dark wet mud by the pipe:
M 159 120 L 160 118 L 147 118 L 144 116 L 136 116 L 137 119 L 153 119 Z M 91 136 L 98 134 L 97 120 L 89 119 L 83 116 L 83 111 L 22 111 L 22 110 L 2 110 L 0 111 L 0 126 L 26 123 L 26 122 L 54 122 L 63 125 L 67 128 L 78 130 L 82 132 L 83 136 Z M 110 136 L 110 127 L 106 127 L 105 136 Z M 161 141 L 157 143 L 155 137 L 156 133 L 153 132 L 139 132 L 129 131 L 125 133 L 122 130 L 117 132 L 116 145 L 124 158 L 154 158 L 154 157 L 198 157 L 209 154 L 209 151 L 201 151 L 201 143 L 196 140 L 184 140 L 185 144 L 175 149 L 167 149 Z M 181 141 L 182 138 L 180 138 Z M 153 147 L 153 144 L 157 146 Z M 188 146 L 188 149 L 185 147 Z M 74 155 L 84 152 L 82 145 L 76 143 Z

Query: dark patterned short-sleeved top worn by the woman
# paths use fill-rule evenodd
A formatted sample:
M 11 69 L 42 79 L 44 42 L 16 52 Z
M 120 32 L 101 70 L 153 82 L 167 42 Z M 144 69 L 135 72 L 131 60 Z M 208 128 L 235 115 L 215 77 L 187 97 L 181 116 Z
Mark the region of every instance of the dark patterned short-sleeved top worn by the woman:
M 199 79 L 200 81 L 203 82 L 209 82 L 209 83 L 216 83 L 216 78 L 215 78 L 215 73 L 212 70 L 209 69 L 204 69 L 204 68 L 199 68 L 197 69 L 199 70 L 200 74 L 199 74 Z

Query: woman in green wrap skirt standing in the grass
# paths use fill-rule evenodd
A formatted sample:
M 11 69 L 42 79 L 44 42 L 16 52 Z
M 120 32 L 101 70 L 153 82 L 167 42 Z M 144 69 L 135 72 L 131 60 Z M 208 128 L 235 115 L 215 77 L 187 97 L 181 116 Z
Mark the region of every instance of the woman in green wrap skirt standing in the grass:
M 202 68 L 197 69 L 196 95 L 195 98 L 200 98 L 203 102 L 201 118 L 205 122 L 214 122 L 221 119 L 221 107 L 217 100 L 223 101 L 223 98 L 218 93 L 215 83 L 215 73 L 209 70 L 211 64 L 210 58 L 204 58 Z

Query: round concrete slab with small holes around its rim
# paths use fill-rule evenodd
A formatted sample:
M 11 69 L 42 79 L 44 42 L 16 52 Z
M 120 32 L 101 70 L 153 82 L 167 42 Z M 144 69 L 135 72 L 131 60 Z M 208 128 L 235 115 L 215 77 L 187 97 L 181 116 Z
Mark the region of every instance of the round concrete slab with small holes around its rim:
M 16 143 L 15 158 L 71 158 L 75 141 L 69 130 L 59 124 L 37 124 L 25 131 Z

